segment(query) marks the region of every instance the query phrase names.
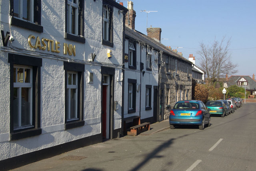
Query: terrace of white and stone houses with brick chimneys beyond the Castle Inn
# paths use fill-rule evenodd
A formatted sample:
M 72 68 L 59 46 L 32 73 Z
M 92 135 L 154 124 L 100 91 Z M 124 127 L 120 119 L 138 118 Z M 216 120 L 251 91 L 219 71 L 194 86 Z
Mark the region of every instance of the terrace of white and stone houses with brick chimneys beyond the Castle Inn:
M 166 120 L 178 100 L 190 100 L 192 62 L 160 43 L 161 28 L 136 31 L 136 12 L 128 3 L 125 29 L 124 120 Z

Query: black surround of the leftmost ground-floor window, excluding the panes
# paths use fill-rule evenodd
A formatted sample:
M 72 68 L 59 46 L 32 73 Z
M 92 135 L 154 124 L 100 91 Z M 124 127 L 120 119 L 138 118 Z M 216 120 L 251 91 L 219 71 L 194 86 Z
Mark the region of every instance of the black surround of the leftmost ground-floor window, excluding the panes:
M 10 63 L 10 140 L 19 140 L 42 134 L 40 116 L 41 116 L 41 67 L 42 58 L 8 54 L 8 63 Z M 32 128 L 14 130 L 14 65 L 23 65 L 32 67 Z

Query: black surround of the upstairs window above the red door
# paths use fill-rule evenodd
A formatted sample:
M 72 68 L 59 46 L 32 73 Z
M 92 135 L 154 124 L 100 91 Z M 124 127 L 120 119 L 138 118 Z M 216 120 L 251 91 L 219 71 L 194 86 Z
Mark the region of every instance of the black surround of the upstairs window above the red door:
M 108 40 L 103 39 L 104 7 L 109 9 Z M 102 45 L 106 45 L 106 46 L 109 46 L 109 47 L 114 47 L 114 43 L 113 43 L 113 7 L 110 6 L 106 0 L 102 1 Z

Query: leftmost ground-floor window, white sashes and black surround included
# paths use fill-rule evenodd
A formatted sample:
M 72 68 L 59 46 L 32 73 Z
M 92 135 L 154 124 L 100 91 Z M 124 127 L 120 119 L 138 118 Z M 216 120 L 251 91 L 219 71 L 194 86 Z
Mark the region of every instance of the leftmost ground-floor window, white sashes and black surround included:
M 42 59 L 8 54 L 10 63 L 10 140 L 42 133 L 40 87 Z

